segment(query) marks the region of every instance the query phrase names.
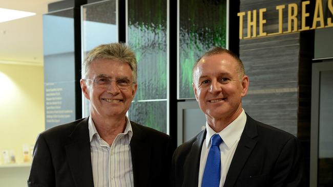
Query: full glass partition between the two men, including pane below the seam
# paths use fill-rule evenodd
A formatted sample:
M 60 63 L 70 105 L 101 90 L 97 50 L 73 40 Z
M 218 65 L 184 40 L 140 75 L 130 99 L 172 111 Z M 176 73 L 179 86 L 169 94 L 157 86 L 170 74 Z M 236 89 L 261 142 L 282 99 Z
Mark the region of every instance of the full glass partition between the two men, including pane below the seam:
M 166 0 L 128 0 L 127 41 L 138 61 L 138 90 L 130 119 L 168 133 Z

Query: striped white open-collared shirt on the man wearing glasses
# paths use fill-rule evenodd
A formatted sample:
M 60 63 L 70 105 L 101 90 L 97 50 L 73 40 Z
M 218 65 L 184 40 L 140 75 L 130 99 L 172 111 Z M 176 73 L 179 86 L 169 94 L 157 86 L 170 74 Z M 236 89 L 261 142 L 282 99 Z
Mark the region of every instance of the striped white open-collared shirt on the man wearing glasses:
M 94 186 L 134 186 L 130 147 L 133 131 L 127 116 L 124 132 L 116 136 L 111 146 L 99 136 L 91 116 L 88 124 Z

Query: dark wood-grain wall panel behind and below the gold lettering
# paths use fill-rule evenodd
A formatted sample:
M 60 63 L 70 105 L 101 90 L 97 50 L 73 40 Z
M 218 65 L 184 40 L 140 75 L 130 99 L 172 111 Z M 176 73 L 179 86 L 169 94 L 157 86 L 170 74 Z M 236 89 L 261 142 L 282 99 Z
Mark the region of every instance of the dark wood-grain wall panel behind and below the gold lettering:
M 240 1 L 240 12 L 246 12 L 243 37 L 247 36 L 247 11 L 257 10 L 257 35 L 259 35 L 259 9 L 264 13 L 264 32 L 277 33 L 279 14 L 283 10 L 283 31 L 287 30 L 287 5 L 298 5 L 298 29 L 301 25 L 301 1 Z M 314 2 L 307 7 L 313 12 Z M 311 20 L 308 17 L 308 20 Z M 308 21 L 307 20 L 307 21 Z M 306 22 L 309 26 L 309 22 Z M 285 130 L 301 142 L 304 161 L 304 180 L 308 186 L 311 63 L 314 58 L 314 30 L 251 39 L 240 39 L 239 54 L 249 76 L 248 94 L 243 98 L 243 108 L 254 119 Z

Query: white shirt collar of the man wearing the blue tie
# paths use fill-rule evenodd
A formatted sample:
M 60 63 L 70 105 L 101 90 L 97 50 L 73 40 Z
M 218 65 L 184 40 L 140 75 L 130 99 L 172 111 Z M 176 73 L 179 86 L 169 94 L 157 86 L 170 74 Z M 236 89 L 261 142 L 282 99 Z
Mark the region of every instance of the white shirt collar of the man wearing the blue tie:
M 230 149 L 237 141 L 237 139 L 240 138 L 242 135 L 242 132 L 244 130 L 246 123 L 246 114 L 243 109 L 243 111 L 240 113 L 240 115 L 234 120 L 231 124 L 226 126 L 221 132 L 215 132 L 206 122 L 206 141 L 205 141 L 205 146 L 206 148 L 209 147 L 211 143 L 211 137 L 214 134 L 219 134 L 220 137 L 222 138 L 223 142 L 225 145 Z

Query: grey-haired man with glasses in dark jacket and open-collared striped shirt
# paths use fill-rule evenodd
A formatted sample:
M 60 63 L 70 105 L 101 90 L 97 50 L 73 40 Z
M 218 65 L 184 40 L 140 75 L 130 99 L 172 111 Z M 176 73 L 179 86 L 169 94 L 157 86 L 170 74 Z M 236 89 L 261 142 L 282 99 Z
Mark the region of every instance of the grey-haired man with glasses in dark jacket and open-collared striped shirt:
M 168 186 L 169 135 L 126 116 L 137 89 L 134 53 L 99 45 L 82 69 L 90 116 L 39 134 L 28 186 Z

